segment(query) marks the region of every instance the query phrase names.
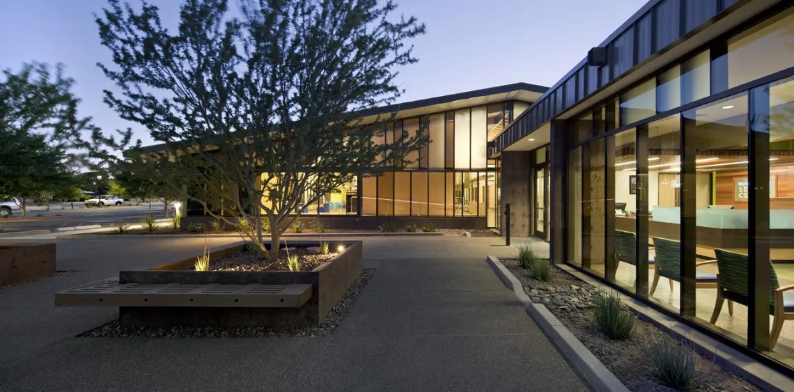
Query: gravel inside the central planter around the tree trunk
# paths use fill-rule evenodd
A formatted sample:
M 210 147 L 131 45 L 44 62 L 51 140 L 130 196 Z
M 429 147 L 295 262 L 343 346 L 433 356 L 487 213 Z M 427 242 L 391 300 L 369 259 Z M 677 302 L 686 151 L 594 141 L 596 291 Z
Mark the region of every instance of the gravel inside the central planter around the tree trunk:
M 290 248 L 289 254 L 298 256 L 301 271 L 312 271 L 337 256 L 336 253 L 322 255 L 308 248 Z M 281 249 L 275 261 L 252 252 L 235 253 L 210 261 L 210 271 L 290 271 L 290 267 L 287 264 L 287 250 Z

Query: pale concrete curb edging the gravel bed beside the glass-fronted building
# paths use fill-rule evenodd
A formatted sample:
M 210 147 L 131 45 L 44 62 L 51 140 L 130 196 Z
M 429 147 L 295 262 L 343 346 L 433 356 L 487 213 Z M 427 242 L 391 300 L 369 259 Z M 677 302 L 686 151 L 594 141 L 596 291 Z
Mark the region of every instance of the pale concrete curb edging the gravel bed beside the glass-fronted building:
M 502 263 L 494 256 L 488 256 L 488 264 L 491 265 L 499 279 L 504 282 L 507 288 L 513 290 L 518 300 L 526 306 L 526 314 L 532 318 L 546 336 L 552 341 L 562 355 L 568 359 L 573 371 L 576 371 L 585 382 L 597 391 L 616 391 L 628 392 L 629 389 L 612 374 L 609 369 L 593 355 L 584 344 L 576 339 L 576 336 L 565 328 L 565 325 L 557 320 L 554 315 L 542 304 L 536 304 L 524 294 L 521 282 L 507 271 Z

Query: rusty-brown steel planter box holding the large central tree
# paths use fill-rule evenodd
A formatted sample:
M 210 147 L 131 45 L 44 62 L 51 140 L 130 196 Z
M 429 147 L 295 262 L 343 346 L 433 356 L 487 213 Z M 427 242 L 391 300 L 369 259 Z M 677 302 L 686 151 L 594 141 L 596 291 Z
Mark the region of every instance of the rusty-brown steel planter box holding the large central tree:
M 241 327 L 254 325 L 301 326 L 319 325 L 330 310 L 353 285 L 362 271 L 361 241 L 329 241 L 332 248 L 345 250 L 314 271 L 186 271 L 195 258 L 181 260 L 148 271 L 121 271 L 119 283 L 142 284 L 311 284 L 308 302 L 299 308 L 209 308 L 209 307 L 130 307 L 119 308 L 119 321 L 126 326 L 214 326 Z M 319 241 L 291 241 L 290 247 L 318 246 Z M 220 248 L 212 259 L 241 252 L 241 245 Z

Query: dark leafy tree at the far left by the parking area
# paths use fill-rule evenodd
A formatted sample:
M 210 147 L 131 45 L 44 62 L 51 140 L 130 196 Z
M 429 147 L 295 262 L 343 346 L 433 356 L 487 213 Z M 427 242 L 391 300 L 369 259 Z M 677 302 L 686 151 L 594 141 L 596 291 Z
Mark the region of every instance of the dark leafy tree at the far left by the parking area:
M 40 63 L 0 73 L 0 195 L 19 196 L 23 216 L 26 199 L 71 186 L 70 168 L 87 159 L 86 140 L 94 140 L 83 132 L 100 134 L 89 117 L 77 116 L 73 84 L 60 65 L 54 75 Z

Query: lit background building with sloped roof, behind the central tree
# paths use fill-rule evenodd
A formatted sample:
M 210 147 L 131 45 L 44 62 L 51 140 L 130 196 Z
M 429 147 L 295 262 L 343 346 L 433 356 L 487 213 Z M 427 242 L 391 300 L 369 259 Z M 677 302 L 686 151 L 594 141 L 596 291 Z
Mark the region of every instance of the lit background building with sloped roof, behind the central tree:
M 448 229 L 497 227 L 498 169 L 497 161 L 488 159 L 488 142 L 545 90 L 515 83 L 360 112 L 362 124 L 375 121 L 379 114 L 396 113 L 396 121 L 387 124 L 384 136 L 373 143 L 391 143 L 398 132 L 415 134 L 423 120 L 429 121 L 426 132 L 431 141 L 416 152 L 415 163 L 400 170 L 357 176 L 311 204 L 306 203 L 315 195 L 306 192 L 306 202 L 299 207 L 301 219 L 336 229 L 377 229 L 387 221 L 400 228 L 428 222 Z M 186 227 L 210 220 L 197 202 L 188 201 L 185 214 Z

